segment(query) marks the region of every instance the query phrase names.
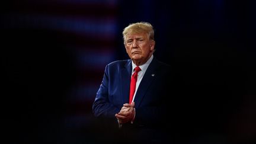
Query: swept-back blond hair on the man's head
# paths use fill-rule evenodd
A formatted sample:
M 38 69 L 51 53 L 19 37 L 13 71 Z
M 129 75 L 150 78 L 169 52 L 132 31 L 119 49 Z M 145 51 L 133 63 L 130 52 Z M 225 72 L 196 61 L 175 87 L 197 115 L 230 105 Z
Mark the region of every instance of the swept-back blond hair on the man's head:
M 149 36 L 149 39 L 154 40 L 154 30 L 153 26 L 150 23 L 146 22 L 139 22 L 139 23 L 132 23 L 129 24 L 123 30 L 123 40 L 125 42 L 127 34 L 139 34 L 139 33 L 146 33 Z

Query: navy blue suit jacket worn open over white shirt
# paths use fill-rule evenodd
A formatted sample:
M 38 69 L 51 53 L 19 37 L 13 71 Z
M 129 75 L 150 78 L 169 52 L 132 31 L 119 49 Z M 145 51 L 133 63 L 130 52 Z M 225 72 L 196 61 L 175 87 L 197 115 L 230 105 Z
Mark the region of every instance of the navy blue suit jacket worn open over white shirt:
M 119 60 L 105 67 L 103 81 L 92 105 L 96 117 L 115 118 L 124 103 L 129 103 L 132 60 Z M 133 126 L 159 126 L 167 116 L 171 67 L 153 58 L 135 96 Z M 117 120 L 116 120 L 117 123 Z

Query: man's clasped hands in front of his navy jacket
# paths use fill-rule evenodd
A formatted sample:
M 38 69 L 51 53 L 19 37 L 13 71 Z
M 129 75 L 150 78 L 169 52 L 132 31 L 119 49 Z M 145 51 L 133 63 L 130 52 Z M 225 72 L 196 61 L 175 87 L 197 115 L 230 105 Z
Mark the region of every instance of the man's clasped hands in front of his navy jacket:
M 127 123 L 132 121 L 135 116 L 135 103 L 132 104 L 123 104 L 123 107 L 119 111 L 118 114 L 115 114 L 117 120 L 120 124 Z

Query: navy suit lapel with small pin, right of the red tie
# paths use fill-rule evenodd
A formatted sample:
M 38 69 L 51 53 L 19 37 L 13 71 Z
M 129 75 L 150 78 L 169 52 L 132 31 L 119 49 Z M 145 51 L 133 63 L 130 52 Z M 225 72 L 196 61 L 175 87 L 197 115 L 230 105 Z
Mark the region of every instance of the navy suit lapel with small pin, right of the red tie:
M 137 89 L 136 95 L 135 95 L 135 105 L 136 107 L 139 107 L 140 102 L 142 101 L 143 97 L 146 94 L 146 91 L 151 85 L 152 80 L 155 78 L 156 75 L 156 66 L 157 66 L 157 61 L 155 58 L 153 58 L 151 64 L 149 65 L 148 69 L 146 70 L 142 81 L 140 82 L 140 85 Z

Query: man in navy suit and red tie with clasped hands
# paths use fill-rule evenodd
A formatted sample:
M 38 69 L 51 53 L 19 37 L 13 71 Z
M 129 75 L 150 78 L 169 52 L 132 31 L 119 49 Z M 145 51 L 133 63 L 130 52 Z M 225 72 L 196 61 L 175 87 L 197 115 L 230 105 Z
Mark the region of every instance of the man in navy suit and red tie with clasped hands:
M 92 105 L 94 116 L 113 119 L 121 129 L 158 130 L 165 127 L 171 109 L 168 105 L 171 67 L 153 56 L 153 27 L 144 22 L 130 24 L 123 30 L 123 40 L 130 59 L 118 60 L 105 67 L 103 81 Z M 137 66 L 140 70 L 136 72 L 135 92 L 129 103 L 130 82 Z

